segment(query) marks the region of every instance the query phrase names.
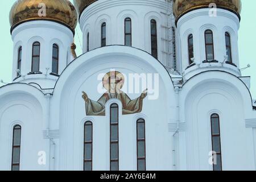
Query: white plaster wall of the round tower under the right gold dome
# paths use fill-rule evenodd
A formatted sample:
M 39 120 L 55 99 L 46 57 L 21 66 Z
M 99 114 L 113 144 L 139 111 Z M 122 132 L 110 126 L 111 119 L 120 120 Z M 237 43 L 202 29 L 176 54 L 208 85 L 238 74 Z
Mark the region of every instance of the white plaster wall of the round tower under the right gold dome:
M 193 26 L 191 26 L 193 25 Z M 177 31 L 179 32 L 179 51 L 181 53 L 181 63 L 183 72 L 188 67 L 188 36 L 193 34 L 194 58 L 196 64 L 201 64 L 205 57 L 205 38 L 206 30 L 213 31 L 214 59 L 220 63 L 224 61 L 226 55 L 225 32 L 229 32 L 231 37 L 232 61 L 239 68 L 238 56 L 238 29 L 240 20 L 238 16 L 228 10 L 217 9 L 216 16 L 209 16 L 209 9 L 199 9 L 191 11 L 183 16 L 177 22 Z M 224 67 L 228 65 L 224 65 Z M 209 67 L 209 65 L 208 65 Z M 219 66 L 221 67 L 221 66 Z M 236 75 L 241 75 L 237 68 L 232 66 Z M 228 72 L 229 69 L 226 69 Z M 195 74 L 194 74 L 195 75 Z

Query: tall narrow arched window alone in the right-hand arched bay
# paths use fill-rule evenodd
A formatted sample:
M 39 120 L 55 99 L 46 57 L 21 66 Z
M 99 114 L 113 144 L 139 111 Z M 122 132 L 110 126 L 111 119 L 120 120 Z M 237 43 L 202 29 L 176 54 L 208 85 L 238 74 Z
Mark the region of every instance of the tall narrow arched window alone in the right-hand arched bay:
M 213 171 L 222 171 L 220 117 L 218 114 L 210 116 L 210 125 L 212 130 Z

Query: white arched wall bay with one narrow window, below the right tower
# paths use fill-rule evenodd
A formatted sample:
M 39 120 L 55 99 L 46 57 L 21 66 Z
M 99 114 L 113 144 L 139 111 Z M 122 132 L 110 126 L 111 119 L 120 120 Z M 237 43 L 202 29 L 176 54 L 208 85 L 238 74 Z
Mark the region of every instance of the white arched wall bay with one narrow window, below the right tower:
M 210 115 L 215 113 L 220 116 L 223 169 L 227 169 L 234 158 L 238 161 L 232 166 L 233 170 L 253 166 L 250 160 L 253 148 L 248 142 L 253 136 L 245 127 L 245 119 L 253 109 L 250 92 L 239 78 L 220 71 L 192 77 L 181 92 L 181 111 L 181 121 L 186 122 L 188 169 L 212 170 L 208 163 L 212 150 Z M 243 155 L 245 153 L 248 155 Z

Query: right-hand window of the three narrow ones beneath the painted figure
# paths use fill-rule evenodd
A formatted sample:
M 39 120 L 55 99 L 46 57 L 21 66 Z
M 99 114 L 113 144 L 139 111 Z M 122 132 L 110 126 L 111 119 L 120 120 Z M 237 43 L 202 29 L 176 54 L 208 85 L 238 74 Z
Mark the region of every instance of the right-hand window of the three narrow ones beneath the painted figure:
M 145 121 L 137 121 L 137 170 L 146 171 L 146 135 Z

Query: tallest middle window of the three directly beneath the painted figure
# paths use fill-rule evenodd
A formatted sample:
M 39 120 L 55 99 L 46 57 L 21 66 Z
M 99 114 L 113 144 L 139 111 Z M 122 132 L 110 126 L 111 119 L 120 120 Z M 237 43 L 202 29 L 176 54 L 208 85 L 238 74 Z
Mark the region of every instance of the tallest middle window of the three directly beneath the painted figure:
M 110 106 L 110 171 L 119 170 L 118 105 Z

